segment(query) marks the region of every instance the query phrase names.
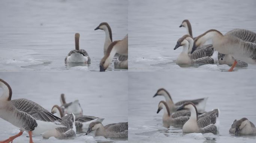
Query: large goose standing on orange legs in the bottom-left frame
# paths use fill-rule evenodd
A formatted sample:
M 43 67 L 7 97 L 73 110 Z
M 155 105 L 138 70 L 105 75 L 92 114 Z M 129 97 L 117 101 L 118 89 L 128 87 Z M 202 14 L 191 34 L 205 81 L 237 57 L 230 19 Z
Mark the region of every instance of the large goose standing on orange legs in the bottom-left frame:
M 0 143 L 12 142 L 16 137 L 28 132 L 30 143 L 33 143 L 32 134 L 42 134 L 45 131 L 58 127 L 65 127 L 60 118 L 51 114 L 39 104 L 28 99 L 12 100 L 12 89 L 3 79 L 0 79 L 3 94 L 0 96 L 0 117 L 20 129 L 15 136 L 9 137 Z

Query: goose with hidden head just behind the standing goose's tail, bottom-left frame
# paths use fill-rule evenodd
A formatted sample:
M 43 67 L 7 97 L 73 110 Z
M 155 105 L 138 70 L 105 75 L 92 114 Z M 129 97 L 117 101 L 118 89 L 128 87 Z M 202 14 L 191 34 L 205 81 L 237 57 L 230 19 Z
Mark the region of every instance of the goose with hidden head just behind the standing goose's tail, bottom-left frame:
M 75 115 L 69 113 L 61 118 L 61 124 L 66 127 L 55 128 L 54 130 L 46 131 L 42 134 L 43 138 L 49 139 L 49 137 L 55 137 L 58 139 L 68 139 L 76 136 L 76 126 L 75 126 Z

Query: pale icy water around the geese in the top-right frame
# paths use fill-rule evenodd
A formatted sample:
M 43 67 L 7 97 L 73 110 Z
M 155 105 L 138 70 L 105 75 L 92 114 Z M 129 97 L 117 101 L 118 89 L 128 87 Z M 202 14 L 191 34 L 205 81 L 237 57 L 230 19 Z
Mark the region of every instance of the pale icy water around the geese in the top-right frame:
M 186 28 L 179 28 L 182 21 L 191 22 L 193 36 L 209 29 L 223 34 L 235 28 L 256 32 L 255 6 L 255 0 L 129 0 L 129 71 L 201 70 L 198 65 L 180 67 L 175 63 L 182 47 L 173 48 L 187 34 Z M 202 69 L 221 71 L 229 67 L 217 64 Z M 255 71 L 256 66 L 237 69 Z

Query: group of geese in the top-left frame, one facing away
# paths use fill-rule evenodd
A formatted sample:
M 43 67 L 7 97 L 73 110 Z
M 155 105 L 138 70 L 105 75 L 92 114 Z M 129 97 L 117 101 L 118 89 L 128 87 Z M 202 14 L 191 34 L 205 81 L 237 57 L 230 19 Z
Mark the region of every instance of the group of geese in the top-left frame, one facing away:
M 112 30 L 107 22 L 102 22 L 94 30 L 105 31 L 104 57 L 100 61 L 100 71 L 105 71 L 112 62 L 113 57 L 119 54 L 114 61 L 115 68 L 128 69 L 128 34 L 122 40 L 112 41 Z M 79 48 L 80 34 L 75 34 L 75 50 L 71 50 L 65 57 L 65 63 L 91 63 L 88 53 Z

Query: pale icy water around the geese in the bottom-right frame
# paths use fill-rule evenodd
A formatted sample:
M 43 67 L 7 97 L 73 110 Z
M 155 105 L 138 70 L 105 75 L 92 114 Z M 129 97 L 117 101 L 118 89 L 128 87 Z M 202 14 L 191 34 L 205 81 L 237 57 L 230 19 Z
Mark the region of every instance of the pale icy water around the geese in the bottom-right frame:
M 256 124 L 256 78 L 240 72 L 228 73 L 181 71 L 129 73 L 129 143 L 255 143 L 256 135 L 235 136 L 229 128 L 235 119 L 248 118 Z M 208 97 L 206 111 L 220 109 L 220 129 L 216 135 L 183 134 L 182 128 L 163 127 L 163 111 L 156 114 L 164 97 L 156 96 L 165 88 L 174 102 Z

